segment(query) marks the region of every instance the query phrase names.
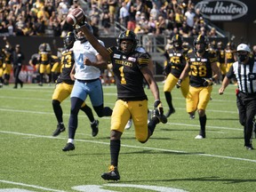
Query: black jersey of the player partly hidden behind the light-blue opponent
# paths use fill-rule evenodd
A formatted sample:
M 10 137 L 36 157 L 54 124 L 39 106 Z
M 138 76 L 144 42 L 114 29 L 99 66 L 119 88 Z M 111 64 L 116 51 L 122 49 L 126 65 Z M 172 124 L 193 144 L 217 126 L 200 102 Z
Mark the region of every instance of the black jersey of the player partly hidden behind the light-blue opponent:
M 61 73 L 57 79 L 57 84 L 65 82 L 66 84 L 74 84 L 74 81 L 70 78 L 70 72 L 75 63 L 73 51 L 67 50 L 61 54 Z

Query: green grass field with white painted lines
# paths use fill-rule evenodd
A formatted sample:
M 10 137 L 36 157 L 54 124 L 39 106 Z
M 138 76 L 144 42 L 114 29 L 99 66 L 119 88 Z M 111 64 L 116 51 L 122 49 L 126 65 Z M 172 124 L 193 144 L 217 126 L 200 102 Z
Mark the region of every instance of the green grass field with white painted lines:
M 159 83 L 164 100 L 163 84 Z M 206 110 L 206 139 L 195 140 L 198 115 L 188 118 L 180 90 L 172 92 L 176 113 L 158 124 L 147 143 L 134 139 L 133 127 L 125 131 L 119 158 L 121 180 L 102 180 L 108 171 L 110 118 L 100 120 L 100 132 L 91 136 L 89 120 L 79 113 L 76 150 L 63 152 L 68 129 L 52 137 L 56 119 L 52 111 L 54 86 L 12 84 L 0 89 L 0 192 L 28 191 L 255 191 L 256 153 L 244 148 L 243 127 L 238 122 L 235 86 L 224 95 L 215 85 Z M 149 90 L 149 108 L 153 97 Z M 116 86 L 104 87 L 105 106 L 114 107 Z M 91 105 L 89 98 L 87 104 Z M 62 103 L 68 128 L 69 99 Z M 96 113 L 93 111 L 94 116 Z M 255 142 L 255 139 L 253 139 Z M 256 145 L 256 144 L 255 144 Z

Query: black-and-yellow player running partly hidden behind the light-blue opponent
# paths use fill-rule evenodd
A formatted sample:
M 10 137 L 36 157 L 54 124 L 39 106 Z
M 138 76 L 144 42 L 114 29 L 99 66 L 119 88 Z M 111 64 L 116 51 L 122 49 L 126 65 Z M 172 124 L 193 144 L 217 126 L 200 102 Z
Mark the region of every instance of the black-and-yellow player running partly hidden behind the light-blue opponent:
M 56 87 L 52 94 L 52 108 L 58 121 L 57 129 L 52 133 L 53 137 L 56 137 L 60 134 L 60 132 L 65 131 L 62 117 L 63 112 L 60 103 L 68 98 L 75 83 L 75 81 L 71 78 L 71 76 L 74 76 L 74 74 L 70 74 L 75 62 L 72 49 L 75 41 L 76 38 L 74 33 L 68 32 L 68 35 L 64 38 L 64 46 L 66 50 L 61 53 L 61 73 L 56 81 Z M 86 116 L 88 116 L 91 122 L 92 137 L 95 137 L 99 132 L 99 121 L 94 119 L 92 109 L 85 105 L 85 103 L 83 103 L 80 109 L 84 111 Z

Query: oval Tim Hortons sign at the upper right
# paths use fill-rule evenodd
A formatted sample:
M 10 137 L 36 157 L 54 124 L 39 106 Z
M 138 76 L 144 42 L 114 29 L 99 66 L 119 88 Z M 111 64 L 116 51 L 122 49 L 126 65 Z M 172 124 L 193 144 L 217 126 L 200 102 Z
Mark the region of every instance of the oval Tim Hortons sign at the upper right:
M 204 0 L 196 4 L 208 20 L 236 20 L 248 12 L 248 7 L 238 0 Z

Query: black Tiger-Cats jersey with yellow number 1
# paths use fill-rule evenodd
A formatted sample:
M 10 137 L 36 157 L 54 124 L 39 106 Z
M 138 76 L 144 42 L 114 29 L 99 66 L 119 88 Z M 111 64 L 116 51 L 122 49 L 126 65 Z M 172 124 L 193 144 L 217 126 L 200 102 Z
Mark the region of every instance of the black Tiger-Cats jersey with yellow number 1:
M 140 72 L 140 68 L 148 66 L 148 54 L 134 51 L 126 55 L 116 47 L 109 47 L 108 52 L 115 74 L 117 98 L 120 100 L 148 100 L 143 88 L 144 76 Z

